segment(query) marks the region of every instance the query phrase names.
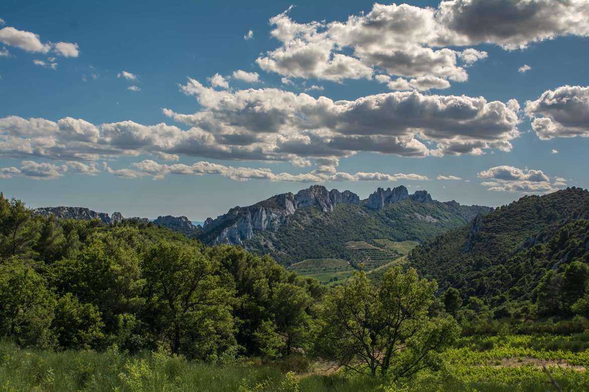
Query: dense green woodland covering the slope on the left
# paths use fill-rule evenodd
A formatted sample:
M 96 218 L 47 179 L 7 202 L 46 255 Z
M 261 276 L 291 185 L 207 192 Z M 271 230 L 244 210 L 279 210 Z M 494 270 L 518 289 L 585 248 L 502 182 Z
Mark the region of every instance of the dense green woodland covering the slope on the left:
M 23 346 L 276 357 L 306 343 L 325 292 L 239 247 L 137 220 L 31 217 L 1 194 L 0 229 L 0 336 Z

